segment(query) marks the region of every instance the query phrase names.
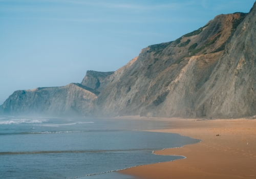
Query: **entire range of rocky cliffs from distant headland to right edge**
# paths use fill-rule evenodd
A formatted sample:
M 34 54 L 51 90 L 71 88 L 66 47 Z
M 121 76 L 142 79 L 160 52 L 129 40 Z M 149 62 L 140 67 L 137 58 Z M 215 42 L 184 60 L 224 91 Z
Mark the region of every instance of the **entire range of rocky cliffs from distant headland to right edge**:
M 256 115 L 256 5 L 218 15 L 175 41 L 142 49 L 115 72 L 81 84 L 17 91 L 4 113 L 238 118 Z

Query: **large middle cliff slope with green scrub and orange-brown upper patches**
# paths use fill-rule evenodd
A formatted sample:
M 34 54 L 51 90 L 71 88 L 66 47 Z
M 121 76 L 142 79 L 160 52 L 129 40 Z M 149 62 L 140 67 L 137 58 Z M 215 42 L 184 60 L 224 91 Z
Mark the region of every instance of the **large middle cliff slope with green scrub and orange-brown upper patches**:
M 198 96 L 203 98 L 205 83 L 246 15 L 219 15 L 175 41 L 143 49 L 136 61 L 112 75 L 114 80 L 96 100 L 95 115 L 207 116 Z

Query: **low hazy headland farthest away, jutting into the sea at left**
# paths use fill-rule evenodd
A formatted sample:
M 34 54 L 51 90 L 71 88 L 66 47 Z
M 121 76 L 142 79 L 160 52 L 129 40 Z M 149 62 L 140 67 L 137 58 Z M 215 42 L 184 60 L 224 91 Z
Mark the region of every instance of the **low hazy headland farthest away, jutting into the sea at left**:
M 14 92 L 1 106 L 9 115 L 88 115 L 99 92 L 79 83 Z

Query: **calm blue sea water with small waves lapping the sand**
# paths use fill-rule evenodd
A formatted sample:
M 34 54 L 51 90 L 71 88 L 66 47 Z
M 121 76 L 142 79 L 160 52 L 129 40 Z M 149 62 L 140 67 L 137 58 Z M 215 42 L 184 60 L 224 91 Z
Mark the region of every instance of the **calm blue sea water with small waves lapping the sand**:
M 142 130 L 170 127 L 151 120 L 0 118 L 0 178 L 134 178 L 117 171 L 183 156 L 154 150 L 199 140 Z

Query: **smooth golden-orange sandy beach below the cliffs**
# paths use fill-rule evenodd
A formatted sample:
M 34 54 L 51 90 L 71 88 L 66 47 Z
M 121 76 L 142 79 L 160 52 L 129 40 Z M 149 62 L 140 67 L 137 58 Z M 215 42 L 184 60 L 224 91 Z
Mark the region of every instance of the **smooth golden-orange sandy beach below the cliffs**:
M 143 119 L 172 123 L 171 128 L 155 132 L 180 133 L 202 142 L 155 152 L 184 155 L 186 159 L 138 166 L 121 173 L 152 179 L 256 178 L 256 120 Z

